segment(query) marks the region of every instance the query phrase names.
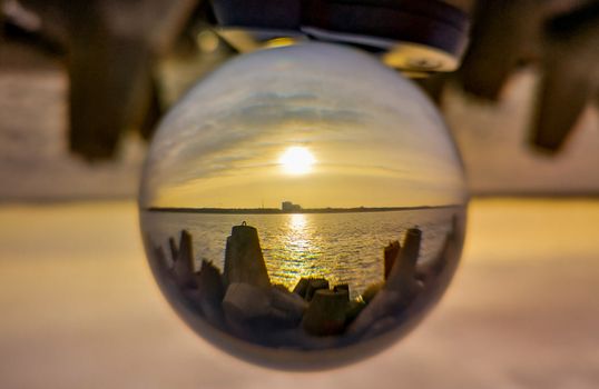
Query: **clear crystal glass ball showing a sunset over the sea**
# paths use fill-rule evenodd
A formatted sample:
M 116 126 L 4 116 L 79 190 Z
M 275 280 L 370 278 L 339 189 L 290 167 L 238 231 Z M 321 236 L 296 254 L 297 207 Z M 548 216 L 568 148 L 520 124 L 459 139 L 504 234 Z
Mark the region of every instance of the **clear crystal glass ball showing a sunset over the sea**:
M 325 369 L 404 336 L 463 242 L 460 158 L 433 104 L 359 50 L 239 56 L 160 123 L 140 191 L 153 273 L 199 336 Z

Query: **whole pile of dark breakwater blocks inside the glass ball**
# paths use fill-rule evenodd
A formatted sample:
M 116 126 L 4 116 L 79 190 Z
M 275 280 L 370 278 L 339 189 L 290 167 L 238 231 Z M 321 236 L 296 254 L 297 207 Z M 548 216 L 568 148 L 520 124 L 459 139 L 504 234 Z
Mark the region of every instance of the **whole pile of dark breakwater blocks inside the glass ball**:
M 192 235 L 183 230 L 167 250 L 154 248 L 168 282 L 198 316 L 218 330 L 272 347 L 324 349 L 369 339 L 401 325 L 405 311 L 433 283 L 452 249 L 448 233 L 439 258 L 419 263 L 422 231 L 411 228 L 403 242 L 383 248 L 380 281 L 350 299 L 350 285 L 323 277 L 301 278 L 289 290 L 268 277 L 258 231 L 245 222 L 226 239 L 224 269 L 202 259 L 196 270 Z M 168 252 L 170 258 L 165 253 Z

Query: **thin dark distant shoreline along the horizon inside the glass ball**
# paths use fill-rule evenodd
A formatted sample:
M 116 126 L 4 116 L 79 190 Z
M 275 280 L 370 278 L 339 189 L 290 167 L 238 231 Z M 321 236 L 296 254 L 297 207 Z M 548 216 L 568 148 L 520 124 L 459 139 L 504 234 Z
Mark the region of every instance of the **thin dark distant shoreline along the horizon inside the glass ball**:
M 305 208 L 283 211 L 278 208 L 163 208 L 149 207 L 146 211 L 168 213 L 213 213 L 213 215 L 293 215 L 293 213 L 364 213 L 389 211 L 416 211 L 425 209 L 458 208 L 462 206 L 419 206 L 419 207 L 357 207 L 357 208 Z

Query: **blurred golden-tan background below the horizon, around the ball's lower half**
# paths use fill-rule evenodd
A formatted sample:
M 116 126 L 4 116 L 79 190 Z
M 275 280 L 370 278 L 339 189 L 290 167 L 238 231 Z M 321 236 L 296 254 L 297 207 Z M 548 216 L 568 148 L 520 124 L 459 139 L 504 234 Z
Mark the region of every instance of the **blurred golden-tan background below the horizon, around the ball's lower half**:
M 151 279 L 132 202 L 0 208 L 2 388 L 597 388 L 599 200 L 475 200 L 441 305 L 387 351 L 265 370 L 197 338 Z

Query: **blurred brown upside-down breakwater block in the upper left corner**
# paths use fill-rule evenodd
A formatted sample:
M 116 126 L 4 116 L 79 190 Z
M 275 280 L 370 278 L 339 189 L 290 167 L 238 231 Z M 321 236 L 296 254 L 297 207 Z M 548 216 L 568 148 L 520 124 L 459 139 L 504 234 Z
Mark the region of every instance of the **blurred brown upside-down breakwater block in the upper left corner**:
M 149 134 L 160 114 L 154 59 L 177 39 L 197 4 L 198 0 L 4 0 L 3 10 L 9 31 L 66 54 L 69 144 L 92 161 L 114 157 L 127 129 Z M 39 22 L 23 26 L 28 14 Z

